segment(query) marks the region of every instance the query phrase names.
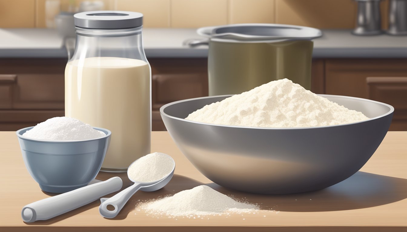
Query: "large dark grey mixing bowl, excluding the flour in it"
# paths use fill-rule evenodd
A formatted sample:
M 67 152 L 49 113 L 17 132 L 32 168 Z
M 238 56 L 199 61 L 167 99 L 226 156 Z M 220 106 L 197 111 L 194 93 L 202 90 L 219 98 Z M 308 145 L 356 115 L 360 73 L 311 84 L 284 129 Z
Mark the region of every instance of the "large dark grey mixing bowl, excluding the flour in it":
M 307 128 L 223 126 L 184 119 L 229 96 L 172 102 L 160 113 L 179 149 L 202 174 L 221 186 L 252 193 L 315 191 L 352 176 L 379 147 L 394 111 L 372 100 L 320 95 L 370 119 Z

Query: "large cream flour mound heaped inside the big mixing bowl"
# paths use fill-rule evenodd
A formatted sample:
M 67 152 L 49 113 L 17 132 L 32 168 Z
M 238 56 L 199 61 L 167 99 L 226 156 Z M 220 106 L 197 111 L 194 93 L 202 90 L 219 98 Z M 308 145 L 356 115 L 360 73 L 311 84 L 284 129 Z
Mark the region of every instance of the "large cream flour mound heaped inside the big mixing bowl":
M 186 119 L 230 126 L 282 128 L 333 126 L 369 118 L 282 79 L 206 105 Z

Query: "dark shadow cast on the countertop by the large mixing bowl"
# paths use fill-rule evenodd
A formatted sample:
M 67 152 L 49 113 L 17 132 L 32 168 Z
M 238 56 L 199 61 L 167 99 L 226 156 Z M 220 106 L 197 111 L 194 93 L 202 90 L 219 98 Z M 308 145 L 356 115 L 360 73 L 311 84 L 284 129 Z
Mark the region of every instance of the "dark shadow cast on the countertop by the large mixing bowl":
M 321 212 L 369 208 L 407 198 L 407 179 L 358 171 L 350 178 L 319 191 L 289 195 L 262 195 L 226 189 L 214 183 L 213 189 L 236 198 L 245 198 L 260 209 L 291 212 Z

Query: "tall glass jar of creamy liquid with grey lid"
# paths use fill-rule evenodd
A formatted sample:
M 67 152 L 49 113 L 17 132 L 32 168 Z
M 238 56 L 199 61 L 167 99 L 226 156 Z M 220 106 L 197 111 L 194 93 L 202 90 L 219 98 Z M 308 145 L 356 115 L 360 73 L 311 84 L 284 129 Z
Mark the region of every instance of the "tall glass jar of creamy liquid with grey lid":
M 101 171 L 127 171 L 150 153 L 151 67 L 141 13 L 74 15 L 76 46 L 65 69 L 65 115 L 112 131 Z

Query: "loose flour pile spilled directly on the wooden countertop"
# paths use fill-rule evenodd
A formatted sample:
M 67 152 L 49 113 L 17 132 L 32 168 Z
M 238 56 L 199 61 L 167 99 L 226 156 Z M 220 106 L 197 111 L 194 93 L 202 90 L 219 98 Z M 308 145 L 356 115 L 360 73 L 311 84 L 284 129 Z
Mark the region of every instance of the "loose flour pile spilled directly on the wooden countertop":
M 218 191 L 200 185 L 171 197 L 142 204 L 141 209 L 151 214 L 164 213 L 174 217 L 222 215 L 224 213 L 252 213 L 258 206 L 237 202 Z

